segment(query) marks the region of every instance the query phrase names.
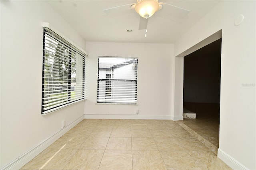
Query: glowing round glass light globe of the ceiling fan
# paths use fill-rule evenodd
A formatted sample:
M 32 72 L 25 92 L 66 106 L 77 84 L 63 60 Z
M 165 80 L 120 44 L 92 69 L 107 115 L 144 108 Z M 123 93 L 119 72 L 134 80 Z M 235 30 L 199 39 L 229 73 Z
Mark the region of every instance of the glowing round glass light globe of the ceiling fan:
M 135 11 L 143 18 L 152 16 L 159 9 L 157 0 L 142 0 L 135 6 Z

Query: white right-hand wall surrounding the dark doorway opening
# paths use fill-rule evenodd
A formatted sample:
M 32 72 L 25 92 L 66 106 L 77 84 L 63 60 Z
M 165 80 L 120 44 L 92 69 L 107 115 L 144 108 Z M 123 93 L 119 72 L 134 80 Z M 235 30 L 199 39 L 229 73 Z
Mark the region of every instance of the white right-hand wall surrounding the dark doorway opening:
M 240 14 L 244 15 L 244 22 L 235 26 L 234 20 Z M 174 56 L 221 29 L 218 157 L 234 169 L 256 169 L 256 1 L 221 1 L 175 43 Z M 176 63 L 175 67 L 182 65 L 183 62 Z

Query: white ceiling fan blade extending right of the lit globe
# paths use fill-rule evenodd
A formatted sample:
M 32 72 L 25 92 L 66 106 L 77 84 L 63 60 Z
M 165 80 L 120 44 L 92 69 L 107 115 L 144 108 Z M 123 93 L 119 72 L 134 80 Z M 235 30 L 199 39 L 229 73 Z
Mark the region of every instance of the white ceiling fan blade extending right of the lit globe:
M 164 12 L 166 15 L 175 16 L 177 18 L 183 19 L 190 12 L 189 10 L 186 10 L 184 8 L 180 8 L 171 4 L 166 4 L 164 2 L 160 2 L 159 4 L 163 6 L 162 9 L 159 10 L 159 13 Z

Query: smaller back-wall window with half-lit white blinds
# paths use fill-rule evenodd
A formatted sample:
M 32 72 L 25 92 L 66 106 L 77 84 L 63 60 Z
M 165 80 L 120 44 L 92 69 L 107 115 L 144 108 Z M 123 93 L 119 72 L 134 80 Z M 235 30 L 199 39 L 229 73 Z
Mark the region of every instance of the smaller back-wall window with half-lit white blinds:
M 97 103 L 137 103 L 138 59 L 98 57 Z

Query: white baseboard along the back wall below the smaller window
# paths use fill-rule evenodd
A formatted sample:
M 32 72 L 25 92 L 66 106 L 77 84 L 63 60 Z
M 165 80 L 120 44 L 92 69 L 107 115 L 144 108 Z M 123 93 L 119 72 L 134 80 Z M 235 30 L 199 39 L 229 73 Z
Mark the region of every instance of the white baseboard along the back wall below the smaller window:
M 157 119 L 157 120 L 171 120 L 168 115 L 96 115 L 85 114 L 84 119 Z

